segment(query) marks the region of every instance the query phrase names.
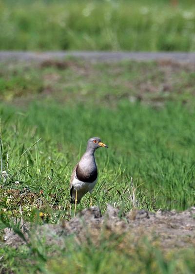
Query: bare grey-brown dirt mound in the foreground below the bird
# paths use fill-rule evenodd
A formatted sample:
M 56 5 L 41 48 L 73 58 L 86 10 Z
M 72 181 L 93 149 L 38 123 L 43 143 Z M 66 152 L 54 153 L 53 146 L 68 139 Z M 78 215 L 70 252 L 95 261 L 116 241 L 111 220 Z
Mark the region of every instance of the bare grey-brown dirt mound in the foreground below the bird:
M 183 212 L 133 210 L 122 214 L 110 205 L 104 215 L 98 207 L 84 209 L 70 221 L 42 226 L 23 225 L 23 235 L 27 242 L 44 238 L 47 245 L 57 244 L 64 248 L 65 239 L 74 235 L 78 243 L 89 236 L 98 244 L 102 233 L 122 235 L 123 243 L 132 247 L 140 238 L 147 237 L 162 250 L 195 247 L 195 207 Z M 13 229 L 5 228 L 4 244 L 18 248 L 24 240 Z

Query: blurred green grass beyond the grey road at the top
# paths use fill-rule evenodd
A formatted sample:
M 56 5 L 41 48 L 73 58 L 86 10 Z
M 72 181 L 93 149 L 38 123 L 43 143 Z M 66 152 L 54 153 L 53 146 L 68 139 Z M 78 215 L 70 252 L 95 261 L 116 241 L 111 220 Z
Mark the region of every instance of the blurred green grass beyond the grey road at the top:
M 195 50 L 193 0 L 0 1 L 0 49 Z

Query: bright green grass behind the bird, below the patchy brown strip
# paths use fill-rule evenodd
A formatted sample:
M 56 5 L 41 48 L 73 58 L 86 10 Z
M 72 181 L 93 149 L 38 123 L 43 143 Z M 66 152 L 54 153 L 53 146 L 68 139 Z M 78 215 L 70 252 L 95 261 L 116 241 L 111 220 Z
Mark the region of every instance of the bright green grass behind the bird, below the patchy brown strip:
M 182 105 L 154 110 L 128 102 L 110 110 L 90 105 L 61 107 L 48 101 L 31 104 L 23 114 L 16 110 L 7 113 L 1 107 L 4 164 L 9 150 L 4 187 L 43 190 L 44 199 L 51 204 L 52 194 L 56 194 L 58 206 L 67 208 L 70 175 L 79 149 L 83 153 L 87 139 L 99 136 L 109 150 L 96 152 L 99 179 L 95 204 L 102 208 L 107 203 L 124 204 L 130 209 L 127 186 L 133 177 L 141 184 L 137 188 L 140 208 L 185 209 L 194 204 L 195 195 L 193 115 Z M 86 195 L 79 208 L 88 204 Z

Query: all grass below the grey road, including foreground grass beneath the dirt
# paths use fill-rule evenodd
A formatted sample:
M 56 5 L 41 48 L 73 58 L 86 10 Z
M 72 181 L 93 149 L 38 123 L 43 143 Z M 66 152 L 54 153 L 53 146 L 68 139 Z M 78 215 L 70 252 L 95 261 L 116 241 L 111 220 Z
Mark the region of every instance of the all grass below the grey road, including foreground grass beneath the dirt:
M 194 206 L 194 84 L 193 65 L 167 61 L 1 63 L 1 170 L 5 173 L 0 179 L 0 227 L 10 225 L 11 217 L 20 217 L 20 206 L 25 220 L 32 221 L 37 214 L 39 222 L 69 220 L 71 171 L 93 136 L 109 145 L 108 150 L 96 152 L 99 177 L 93 202 L 102 212 L 107 203 L 123 211 L 132 209 L 131 177 L 140 209 Z M 78 210 L 87 206 L 89 195 Z M 62 267 L 51 255 L 54 247 L 39 244 L 34 250 L 15 251 L 0 246 L 1 271 L 195 271 L 193 250 L 164 255 L 147 240 L 123 251 L 119 239 L 102 239 L 98 246 L 91 242 L 78 246 L 71 240 L 67 246 L 57 255 Z

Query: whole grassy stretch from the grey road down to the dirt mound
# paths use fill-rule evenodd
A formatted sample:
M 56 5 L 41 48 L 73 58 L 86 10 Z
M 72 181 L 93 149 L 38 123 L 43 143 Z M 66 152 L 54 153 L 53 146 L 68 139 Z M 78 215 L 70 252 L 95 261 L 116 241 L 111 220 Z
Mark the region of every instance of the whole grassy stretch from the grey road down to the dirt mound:
M 140 185 L 140 208 L 186 209 L 194 204 L 193 68 L 67 60 L 2 64 L 0 69 L 0 82 L 5 83 L 0 95 L 3 170 L 7 150 L 9 158 L 5 187 L 29 187 L 38 196 L 43 190 L 46 201 L 67 208 L 71 171 L 88 138 L 99 136 L 109 145 L 96 153 L 99 183 L 94 197 L 101 207 L 111 202 L 131 208 L 130 177 Z M 163 90 L 163 85 L 169 88 Z M 2 199 L 13 212 L 15 201 L 9 195 Z M 88 202 L 86 195 L 79 208 Z

